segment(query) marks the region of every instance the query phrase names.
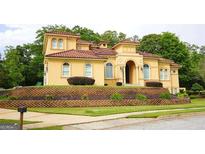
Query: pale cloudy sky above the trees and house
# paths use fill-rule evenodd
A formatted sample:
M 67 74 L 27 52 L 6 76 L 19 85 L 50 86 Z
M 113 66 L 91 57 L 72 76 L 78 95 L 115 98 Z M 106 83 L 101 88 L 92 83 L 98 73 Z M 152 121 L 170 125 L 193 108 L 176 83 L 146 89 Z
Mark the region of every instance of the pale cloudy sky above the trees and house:
M 67 25 L 73 27 L 73 25 Z M 3 53 L 5 46 L 21 45 L 35 40 L 35 32 L 43 25 L 5 25 L 0 24 L 0 53 Z M 45 25 L 44 25 L 45 26 Z M 199 46 L 205 45 L 205 24 L 80 24 L 80 26 L 93 29 L 95 32 L 103 33 L 106 30 L 116 30 L 126 33 L 128 37 L 138 35 L 142 38 L 151 33 L 161 33 L 165 31 L 176 33 L 182 41 Z

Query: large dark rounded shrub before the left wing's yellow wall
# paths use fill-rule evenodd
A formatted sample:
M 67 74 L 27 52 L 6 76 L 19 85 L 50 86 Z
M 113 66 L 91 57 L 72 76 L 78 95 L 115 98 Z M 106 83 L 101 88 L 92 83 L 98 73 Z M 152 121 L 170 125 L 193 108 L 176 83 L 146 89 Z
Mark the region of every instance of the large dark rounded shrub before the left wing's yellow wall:
M 67 79 L 70 85 L 93 85 L 95 80 L 89 77 L 75 76 Z

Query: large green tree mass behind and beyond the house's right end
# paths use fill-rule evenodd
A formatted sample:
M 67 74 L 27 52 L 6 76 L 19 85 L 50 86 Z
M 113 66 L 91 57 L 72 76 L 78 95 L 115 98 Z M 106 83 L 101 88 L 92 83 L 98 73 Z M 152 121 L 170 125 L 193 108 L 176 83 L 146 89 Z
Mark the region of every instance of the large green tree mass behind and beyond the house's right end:
M 191 89 L 198 82 L 205 87 L 205 47 L 199 48 L 180 41 L 173 33 L 149 34 L 140 41 L 139 50 L 161 55 L 181 65 L 180 86 Z M 200 54 L 199 54 L 200 52 Z

